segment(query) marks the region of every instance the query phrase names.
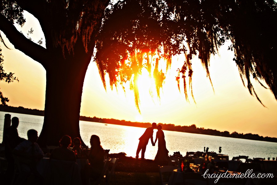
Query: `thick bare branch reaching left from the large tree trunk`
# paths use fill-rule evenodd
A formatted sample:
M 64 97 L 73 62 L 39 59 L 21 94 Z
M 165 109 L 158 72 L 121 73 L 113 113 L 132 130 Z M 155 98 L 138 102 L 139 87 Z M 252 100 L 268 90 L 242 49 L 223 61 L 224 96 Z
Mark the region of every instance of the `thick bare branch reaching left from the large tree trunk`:
M 0 22 L 0 30 L 3 31 L 15 49 L 22 51 L 25 55 L 45 66 L 47 52 L 44 47 L 27 39 L 2 14 L 0 14 Z

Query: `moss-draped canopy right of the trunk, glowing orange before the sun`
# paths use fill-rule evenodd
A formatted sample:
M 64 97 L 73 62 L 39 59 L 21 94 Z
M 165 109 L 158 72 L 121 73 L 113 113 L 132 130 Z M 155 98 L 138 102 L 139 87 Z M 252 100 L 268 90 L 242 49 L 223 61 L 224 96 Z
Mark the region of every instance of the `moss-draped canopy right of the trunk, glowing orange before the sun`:
M 260 101 L 252 86 L 253 78 L 268 86 L 277 100 L 275 19 L 275 1 L 118 1 L 106 9 L 94 59 L 104 86 L 106 72 L 111 87 L 131 80 L 139 106 L 135 84 L 142 68 L 155 77 L 159 96 L 166 76 L 159 70 L 159 62 L 165 60 L 169 67 L 173 55 L 185 55 L 176 80 L 179 86 L 183 78 L 187 99 L 188 91 L 193 97 L 192 57 L 199 58 L 211 81 L 210 56 L 231 40 L 229 49 L 235 53 L 233 60 L 250 94 Z

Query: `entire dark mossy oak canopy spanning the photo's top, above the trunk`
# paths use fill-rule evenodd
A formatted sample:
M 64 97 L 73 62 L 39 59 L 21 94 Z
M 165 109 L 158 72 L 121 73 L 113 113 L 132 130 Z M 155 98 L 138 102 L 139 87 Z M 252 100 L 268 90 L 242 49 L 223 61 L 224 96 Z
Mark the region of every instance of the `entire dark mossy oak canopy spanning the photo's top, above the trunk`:
M 37 5 L 42 6 L 46 17 L 37 11 Z M 22 7 L 26 10 L 29 6 L 20 0 L 0 3 L 1 14 L 20 25 L 25 22 Z M 142 69 L 155 78 L 159 96 L 166 76 L 161 68 L 163 60 L 167 69 L 173 55 L 184 55 L 176 80 L 178 86 L 183 80 L 188 100 L 188 89 L 193 97 L 193 57 L 199 58 L 211 81 L 210 57 L 226 40 L 232 42 L 229 49 L 234 51 L 234 61 L 251 95 L 259 100 L 252 85 L 254 79 L 267 86 L 277 100 L 274 0 L 38 1 L 30 9 L 45 23 L 46 48 L 61 47 L 64 56 L 65 51 L 74 54 L 74 49 L 80 49 L 74 46 L 82 39 L 81 49 L 92 53 L 96 39 L 94 60 L 104 87 L 106 73 L 111 87 L 130 82 L 137 107 L 137 80 Z

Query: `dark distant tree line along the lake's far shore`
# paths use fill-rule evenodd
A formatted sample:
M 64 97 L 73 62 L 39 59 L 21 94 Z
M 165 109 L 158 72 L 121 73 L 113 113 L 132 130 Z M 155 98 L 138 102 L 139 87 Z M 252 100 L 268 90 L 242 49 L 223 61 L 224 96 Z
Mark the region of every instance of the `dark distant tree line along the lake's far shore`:
M 7 105 L 0 105 L 0 111 L 44 116 L 43 110 L 27 109 L 27 108 L 24 108 L 21 106 L 12 107 L 12 106 L 7 106 Z M 124 125 L 124 126 L 134 126 L 134 127 L 142 127 L 142 128 L 147 128 L 147 127 L 151 126 L 151 123 L 141 123 L 141 122 L 131 122 L 131 121 L 117 120 L 117 119 L 98 118 L 95 116 L 94 117 L 80 116 L 80 121 L 90 121 L 90 122 Z M 228 132 L 228 131 L 221 132 L 219 130 L 204 129 L 203 127 L 198 128 L 194 124 L 190 125 L 190 126 L 180 126 L 180 125 L 163 124 L 163 123 L 158 123 L 158 124 L 162 125 L 163 130 L 169 130 L 169 131 L 187 132 L 187 133 L 193 133 L 193 134 L 206 134 L 206 135 L 223 136 L 223 137 L 230 137 L 230 138 L 251 139 L 251 140 L 267 141 L 267 142 L 277 142 L 277 138 L 263 137 L 263 136 L 259 136 L 258 134 L 251 134 L 251 133 L 243 134 L 243 133 L 233 132 L 230 134 L 230 132 Z

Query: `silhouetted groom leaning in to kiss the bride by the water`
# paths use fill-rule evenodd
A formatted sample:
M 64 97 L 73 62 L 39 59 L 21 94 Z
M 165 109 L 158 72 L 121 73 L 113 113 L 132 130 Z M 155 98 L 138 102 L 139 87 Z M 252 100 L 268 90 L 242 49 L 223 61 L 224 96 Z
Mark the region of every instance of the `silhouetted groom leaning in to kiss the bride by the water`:
M 153 133 L 154 133 L 154 129 L 156 127 L 157 127 L 157 124 L 152 123 L 152 127 L 148 127 L 145 130 L 145 132 L 143 133 L 143 135 L 139 138 L 139 145 L 138 145 L 138 149 L 137 149 L 137 153 L 136 153 L 136 159 L 139 158 L 140 150 L 141 150 L 141 159 L 145 159 L 144 153 L 145 153 L 146 146 L 148 144 L 149 139 L 151 139 L 152 146 L 155 146 L 155 144 L 153 142 Z

